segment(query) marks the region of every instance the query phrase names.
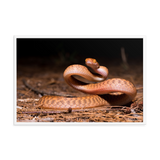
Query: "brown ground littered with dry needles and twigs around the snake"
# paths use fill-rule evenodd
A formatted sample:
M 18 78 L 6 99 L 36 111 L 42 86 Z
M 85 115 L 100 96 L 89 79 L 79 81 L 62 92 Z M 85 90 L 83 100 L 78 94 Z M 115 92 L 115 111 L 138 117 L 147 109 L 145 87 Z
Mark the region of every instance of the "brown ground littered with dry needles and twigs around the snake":
M 124 78 L 135 85 L 137 96 L 130 104 L 76 111 L 35 109 L 34 105 L 43 95 L 77 97 L 87 94 L 65 83 L 63 71 L 70 64 L 53 65 L 44 58 L 22 58 L 17 65 L 17 122 L 143 122 L 142 62 L 136 60 L 124 64 L 122 60 L 114 60 L 105 64 L 103 59 L 101 62 L 109 69 L 108 78 Z

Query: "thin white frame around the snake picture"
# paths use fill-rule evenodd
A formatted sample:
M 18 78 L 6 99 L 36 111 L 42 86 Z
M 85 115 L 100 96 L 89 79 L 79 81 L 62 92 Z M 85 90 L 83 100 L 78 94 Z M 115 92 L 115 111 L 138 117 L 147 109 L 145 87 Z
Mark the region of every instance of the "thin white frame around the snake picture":
M 11 38 L 14 38 L 13 54 L 14 60 L 14 125 L 146 125 L 146 32 L 15 32 L 11 34 Z M 143 39 L 143 122 L 17 122 L 17 38 L 142 38 Z M 148 46 L 149 48 L 149 41 Z M 12 50 L 11 50 L 12 52 Z M 12 59 L 11 59 L 12 60 Z M 147 58 L 149 60 L 149 58 Z M 149 100 L 148 100 L 149 101 Z M 11 113 L 12 114 L 12 113 Z M 149 110 L 147 117 L 149 116 Z M 147 122 L 149 124 L 149 122 Z

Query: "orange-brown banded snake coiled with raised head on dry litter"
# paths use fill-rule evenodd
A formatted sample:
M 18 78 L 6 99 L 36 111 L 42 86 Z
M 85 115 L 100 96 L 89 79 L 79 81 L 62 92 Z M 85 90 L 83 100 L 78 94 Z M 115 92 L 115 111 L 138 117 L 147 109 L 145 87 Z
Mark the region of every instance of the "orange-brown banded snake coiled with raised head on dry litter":
M 137 91 L 133 83 L 122 78 L 107 79 L 108 68 L 100 66 L 96 59 L 86 58 L 85 63 L 92 71 L 83 65 L 74 64 L 65 69 L 63 77 L 69 86 L 87 93 L 87 96 L 46 95 L 39 99 L 36 106 L 53 110 L 85 109 L 125 105 L 135 98 Z M 92 83 L 86 83 L 75 76 L 82 77 Z

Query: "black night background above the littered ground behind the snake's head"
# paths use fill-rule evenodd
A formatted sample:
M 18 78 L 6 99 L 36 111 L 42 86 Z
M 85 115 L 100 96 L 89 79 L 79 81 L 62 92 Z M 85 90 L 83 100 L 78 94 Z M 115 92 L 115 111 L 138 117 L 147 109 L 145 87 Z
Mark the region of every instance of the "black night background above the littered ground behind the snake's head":
M 122 61 L 125 48 L 128 63 L 143 60 L 143 39 L 17 39 L 18 63 L 69 65 L 91 57 L 102 65 Z M 41 61 L 38 61 L 41 59 Z M 107 65 L 106 65 L 107 66 Z

